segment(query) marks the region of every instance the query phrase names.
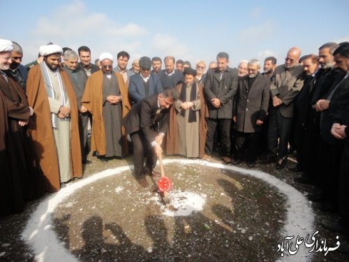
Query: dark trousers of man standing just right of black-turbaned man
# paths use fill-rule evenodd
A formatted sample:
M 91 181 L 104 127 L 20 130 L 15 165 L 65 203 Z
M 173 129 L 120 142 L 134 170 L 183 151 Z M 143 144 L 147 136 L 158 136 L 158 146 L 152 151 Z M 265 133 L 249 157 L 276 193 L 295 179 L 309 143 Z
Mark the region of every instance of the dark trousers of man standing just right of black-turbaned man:
M 232 119 L 211 119 L 207 118 L 207 136 L 205 153 L 212 154 L 214 147 L 214 133 L 216 133 L 216 128 L 221 130 L 221 155 L 227 157 L 230 155 L 230 126 L 232 124 Z

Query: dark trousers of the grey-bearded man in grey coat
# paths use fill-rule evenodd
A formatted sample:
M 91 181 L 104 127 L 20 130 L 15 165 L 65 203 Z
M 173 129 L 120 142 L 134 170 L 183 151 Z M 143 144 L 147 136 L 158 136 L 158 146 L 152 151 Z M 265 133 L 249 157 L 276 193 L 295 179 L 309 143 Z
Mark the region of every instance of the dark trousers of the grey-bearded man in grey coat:
M 242 133 L 236 131 L 235 144 L 237 148 L 237 159 L 244 159 L 248 162 L 257 160 L 258 144 L 260 143 L 262 133 Z

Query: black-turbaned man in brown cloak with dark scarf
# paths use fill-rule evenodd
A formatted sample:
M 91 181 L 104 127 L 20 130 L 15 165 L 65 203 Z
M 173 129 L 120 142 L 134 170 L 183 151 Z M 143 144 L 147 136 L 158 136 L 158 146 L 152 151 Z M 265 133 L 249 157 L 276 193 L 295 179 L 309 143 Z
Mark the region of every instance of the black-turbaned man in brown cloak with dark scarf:
M 186 67 L 183 73 L 184 83 L 175 87 L 179 99 L 170 110 L 166 149 L 168 154 L 203 157 L 207 133 L 203 86 L 195 81 L 195 69 Z

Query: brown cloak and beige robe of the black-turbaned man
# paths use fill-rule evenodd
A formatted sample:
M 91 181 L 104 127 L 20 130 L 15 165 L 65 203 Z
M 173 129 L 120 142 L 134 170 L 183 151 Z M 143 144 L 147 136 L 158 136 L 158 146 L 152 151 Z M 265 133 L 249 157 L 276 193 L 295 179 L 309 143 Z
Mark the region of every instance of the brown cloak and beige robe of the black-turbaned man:
M 174 103 L 174 106 L 172 106 L 170 110 L 170 126 L 166 140 L 166 150 L 168 154 L 181 154 L 186 157 L 202 157 L 205 154 L 207 133 L 205 117 L 208 113 L 202 92 L 202 85 L 196 83 L 196 86 L 198 95 L 197 100 L 193 102 L 195 110 L 198 110 L 196 115 L 197 122 L 188 123 L 188 112 L 186 112 L 184 116 L 179 115 L 179 105 L 181 101 Z M 182 84 L 175 87 L 178 94 L 180 94 L 181 88 Z M 186 97 L 187 101 L 189 101 L 190 89 L 187 90 Z

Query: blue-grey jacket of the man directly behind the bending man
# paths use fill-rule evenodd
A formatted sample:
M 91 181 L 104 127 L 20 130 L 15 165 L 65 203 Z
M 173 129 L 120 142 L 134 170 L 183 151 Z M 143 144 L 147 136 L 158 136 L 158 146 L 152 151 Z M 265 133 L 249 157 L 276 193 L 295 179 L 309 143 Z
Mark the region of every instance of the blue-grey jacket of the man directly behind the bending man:
M 160 79 L 154 73 L 149 76 L 149 96 L 151 94 L 158 94 L 163 91 L 163 85 L 161 85 Z M 145 97 L 144 81 L 140 74 L 132 75 L 130 78 L 130 84 L 128 85 L 128 95 L 131 98 L 132 103 L 138 103 Z

